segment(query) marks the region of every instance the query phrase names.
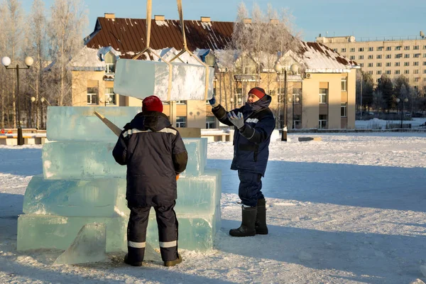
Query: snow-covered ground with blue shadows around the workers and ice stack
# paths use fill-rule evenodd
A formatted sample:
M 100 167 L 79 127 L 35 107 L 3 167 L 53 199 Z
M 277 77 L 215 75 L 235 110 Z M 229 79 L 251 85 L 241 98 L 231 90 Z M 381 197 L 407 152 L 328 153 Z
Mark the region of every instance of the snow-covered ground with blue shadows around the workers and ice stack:
M 222 228 L 213 253 L 181 251 L 173 268 L 121 263 L 51 266 L 60 251 L 16 251 L 16 220 L 40 146 L 0 146 L 0 283 L 413 283 L 425 280 L 426 133 L 325 134 L 271 143 L 263 179 L 270 234 L 239 226 L 232 143 L 209 143 L 222 169 Z M 274 136 L 277 137 L 277 134 Z M 425 271 L 426 273 L 426 271 Z M 420 280 L 417 280 L 417 283 Z

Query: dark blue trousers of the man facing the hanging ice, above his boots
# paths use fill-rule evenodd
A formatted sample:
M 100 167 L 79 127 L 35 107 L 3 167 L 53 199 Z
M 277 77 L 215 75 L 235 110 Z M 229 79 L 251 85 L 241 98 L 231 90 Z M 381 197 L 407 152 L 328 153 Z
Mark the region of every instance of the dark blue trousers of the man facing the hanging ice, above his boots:
M 246 206 L 256 206 L 257 201 L 263 197 L 262 193 L 262 175 L 260 173 L 251 173 L 246 170 L 238 170 L 240 180 L 238 195 Z

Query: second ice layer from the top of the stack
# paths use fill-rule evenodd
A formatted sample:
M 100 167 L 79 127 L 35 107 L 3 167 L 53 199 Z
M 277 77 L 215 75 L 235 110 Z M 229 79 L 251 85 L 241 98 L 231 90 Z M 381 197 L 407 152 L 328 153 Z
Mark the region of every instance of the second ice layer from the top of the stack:
M 207 163 L 207 138 L 185 138 L 188 152 L 187 170 L 182 175 L 204 173 Z M 43 146 L 43 174 L 46 179 L 123 178 L 126 166 L 112 157 L 115 143 L 52 142 Z

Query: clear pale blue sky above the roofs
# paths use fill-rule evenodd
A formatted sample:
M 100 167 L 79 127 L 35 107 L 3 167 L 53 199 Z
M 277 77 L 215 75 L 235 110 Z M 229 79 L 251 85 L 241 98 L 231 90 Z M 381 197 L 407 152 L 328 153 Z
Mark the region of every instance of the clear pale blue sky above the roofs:
M 178 19 L 175 0 L 152 0 L 153 15 Z M 23 8 L 31 9 L 31 0 L 23 0 Z M 45 0 L 50 8 L 53 0 Z M 183 16 L 197 20 L 210 16 L 212 21 L 234 21 L 241 0 L 182 0 Z M 329 36 L 351 35 L 361 37 L 408 36 L 426 33 L 425 0 L 249 0 L 244 1 L 251 10 L 253 3 L 266 11 L 268 3 L 275 9 L 288 8 L 295 17 L 297 31 L 302 38 L 315 41 L 319 33 Z M 144 0 L 85 0 L 89 11 L 89 28 L 94 29 L 99 16 L 115 13 L 117 18 L 145 18 Z

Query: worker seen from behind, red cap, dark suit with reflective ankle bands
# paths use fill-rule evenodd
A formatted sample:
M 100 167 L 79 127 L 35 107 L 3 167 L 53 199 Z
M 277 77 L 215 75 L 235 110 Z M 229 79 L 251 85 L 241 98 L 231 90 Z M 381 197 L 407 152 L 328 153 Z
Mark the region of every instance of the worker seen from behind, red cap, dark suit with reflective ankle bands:
M 130 209 L 128 253 L 124 262 L 142 266 L 151 207 L 158 223 L 164 266 L 182 262 L 178 253 L 178 219 L 174 210 L 179 174 L 187 165 L 187 151 L 177 129 L 163 114 L 158 97 L 143 99 L 142 112 L 124 126 L 112 155 L 127 165 L 126 200 Z

